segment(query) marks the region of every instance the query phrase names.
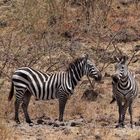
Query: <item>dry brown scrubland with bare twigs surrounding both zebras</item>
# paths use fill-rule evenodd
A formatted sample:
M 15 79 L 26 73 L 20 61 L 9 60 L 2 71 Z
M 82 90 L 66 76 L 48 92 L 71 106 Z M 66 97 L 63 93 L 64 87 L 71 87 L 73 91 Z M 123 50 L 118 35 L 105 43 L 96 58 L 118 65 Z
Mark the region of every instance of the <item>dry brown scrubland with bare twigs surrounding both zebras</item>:
M 115 129 L 116 105 L 110 75 L 114 55 L 129 57 L 129 67 L 140 85 L 139 0 L 1 0 L 0 1 L 0 139 L 139 139 L 140 128 Z M 136 46 L 136 47 L 135 47 Z M 69 120 L 83 119 L 75 127 L 37 125 L 40 118 L 57 118 L 57 101 L 32 101 L 29 113 L 36 125 L 14 121 L 14 101 L 8 103 L 14 70 L 30 66 L 43 72 L 64 70 L 74 58 L 88 53 L 103 74 L 102 83 L 83 78 L 68 101 Z M 89 82 L 90 80 L 90 82 Z M 98 92 L 95 101 L 82 100 L 86 89 Z M 134 106 L 139 123 L 140 100 Z M 21 120 L 24 118 L 21 114 Z M 126 116 L 126 121 L 127 120 Z M 25 122 L 25 121 L 23 121 Z

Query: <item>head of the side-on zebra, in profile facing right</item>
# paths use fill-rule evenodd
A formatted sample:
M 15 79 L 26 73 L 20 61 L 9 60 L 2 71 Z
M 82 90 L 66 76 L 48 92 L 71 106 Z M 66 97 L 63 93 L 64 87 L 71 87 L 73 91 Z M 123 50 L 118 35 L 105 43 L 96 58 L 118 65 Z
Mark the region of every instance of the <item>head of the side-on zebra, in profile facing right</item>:
M 85 56 L 85 74 L 91 78 L 94 78 L 96 81 L 100 81 L 102 79 L 101 72 L 97 69 L 95 64 L 93 64 L 89 59 L 88 55 Z

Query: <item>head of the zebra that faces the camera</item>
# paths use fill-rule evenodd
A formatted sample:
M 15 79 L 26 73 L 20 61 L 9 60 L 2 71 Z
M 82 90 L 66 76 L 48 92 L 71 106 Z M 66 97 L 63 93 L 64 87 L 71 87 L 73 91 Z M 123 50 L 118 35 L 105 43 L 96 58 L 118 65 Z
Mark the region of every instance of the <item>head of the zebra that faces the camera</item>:
M 112 75 L 112 80 L 114 82 L 118 82 L 120 79 L 124 79 L 128 75 L 128 67 L 126 64 L 127 61 L 126 56 L 121 56 L 120 58 L 115 57 L 117 64 L 115 65 L 115 74 Z

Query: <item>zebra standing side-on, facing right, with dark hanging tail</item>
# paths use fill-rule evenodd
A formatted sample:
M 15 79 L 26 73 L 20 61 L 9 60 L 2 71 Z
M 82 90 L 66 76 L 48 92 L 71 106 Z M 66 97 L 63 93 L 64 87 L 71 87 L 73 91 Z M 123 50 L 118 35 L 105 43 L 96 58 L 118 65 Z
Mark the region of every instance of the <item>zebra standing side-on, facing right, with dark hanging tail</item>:
M 10 101 L 15 91 L 15 121 L 20 123 L 18 110 L 20 103 L 27 123 L 32 123 L 28 114 L 28 104 L 31 96 L 38 100 L 58 99 L 59 121 L 63 121 L 63 114 L 67 99 L 73 94 L 75 86 L 81 78 L 87 75 L 95 81 L 102 79 L 101 72 L 95 64 L 84 55 L 71 62 L 65 71 L 57 73 L 43 73 L 30 67 L 21 67 L 12 75 Z

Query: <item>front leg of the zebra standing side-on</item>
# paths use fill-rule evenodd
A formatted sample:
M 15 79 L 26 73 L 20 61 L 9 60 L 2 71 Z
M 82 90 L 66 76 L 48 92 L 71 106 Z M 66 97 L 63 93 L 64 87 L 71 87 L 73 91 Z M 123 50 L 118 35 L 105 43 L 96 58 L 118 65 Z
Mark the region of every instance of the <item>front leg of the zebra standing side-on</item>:
M 63 114 L 64 114 L 67 99 L 68 98 L 66 95 L 59 97 L 59 121 L 63 121 Z

